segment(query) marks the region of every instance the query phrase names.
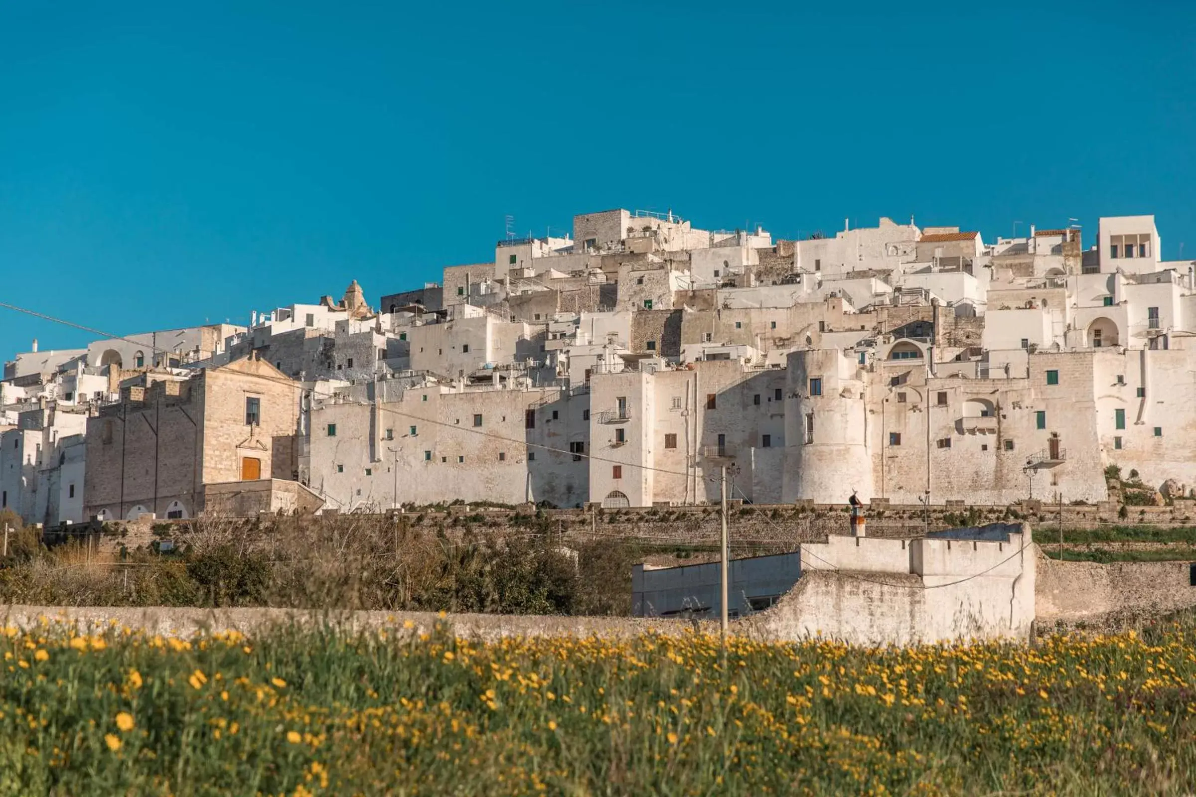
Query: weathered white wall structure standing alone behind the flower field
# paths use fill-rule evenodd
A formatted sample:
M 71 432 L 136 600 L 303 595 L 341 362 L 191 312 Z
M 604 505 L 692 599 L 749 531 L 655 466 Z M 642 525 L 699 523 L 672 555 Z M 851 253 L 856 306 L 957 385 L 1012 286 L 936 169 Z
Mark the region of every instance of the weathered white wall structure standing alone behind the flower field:
M 869 645 L 1026 639 L 1035 620 L 1038 556 L 1030 527 L 1003 539 L 980 537 L 832 537 L 804 544 L 797 587 L 776 606 L 738 623 L 738 632 Z

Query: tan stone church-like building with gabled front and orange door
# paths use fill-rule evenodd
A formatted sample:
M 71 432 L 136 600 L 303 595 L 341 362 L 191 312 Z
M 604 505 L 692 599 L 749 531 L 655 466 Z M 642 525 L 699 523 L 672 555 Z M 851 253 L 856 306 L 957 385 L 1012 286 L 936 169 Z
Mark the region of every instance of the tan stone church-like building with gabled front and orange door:
M 207 484 L 295 479 L 298 391 L 257 357 L 130 380 L 87 418 L 85 516 L 190 517 Z

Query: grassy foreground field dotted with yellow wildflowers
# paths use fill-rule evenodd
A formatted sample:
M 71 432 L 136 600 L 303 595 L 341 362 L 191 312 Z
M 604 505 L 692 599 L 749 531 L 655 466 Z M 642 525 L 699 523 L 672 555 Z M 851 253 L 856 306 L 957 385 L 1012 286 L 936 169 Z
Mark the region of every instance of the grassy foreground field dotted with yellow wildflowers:
M 0 793 L 1191 793 L 1194 643 L 7 629 Z

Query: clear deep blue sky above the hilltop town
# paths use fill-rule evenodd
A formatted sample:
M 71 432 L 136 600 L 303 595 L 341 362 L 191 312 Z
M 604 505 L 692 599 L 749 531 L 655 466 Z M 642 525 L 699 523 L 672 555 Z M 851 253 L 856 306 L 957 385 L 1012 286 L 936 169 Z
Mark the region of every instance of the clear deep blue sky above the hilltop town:
M 129 333 L 371 302 L 614 207 L 1196 256 L 1196 4 L 0 0 L 0 301 Z M 0 309 L 0 356 L 92 336 Z

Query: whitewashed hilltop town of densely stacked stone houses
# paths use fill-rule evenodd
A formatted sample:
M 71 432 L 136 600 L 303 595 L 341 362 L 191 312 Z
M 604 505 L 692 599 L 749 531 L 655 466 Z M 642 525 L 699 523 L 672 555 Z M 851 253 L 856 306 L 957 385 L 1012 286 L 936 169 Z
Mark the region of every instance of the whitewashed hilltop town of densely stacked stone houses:
M 1091 235 L 1091 231 L 1087 231 Z M 1196 485 L 1196 262 L 1154 216 L 986 241 L 574 216 L 439 284 L 17 354 L 0 507 L 28 523 L 384 511 L 1109 499 Z M 402 287 L 402 286 L 393 286 Z

